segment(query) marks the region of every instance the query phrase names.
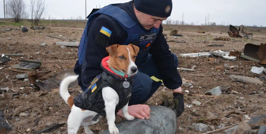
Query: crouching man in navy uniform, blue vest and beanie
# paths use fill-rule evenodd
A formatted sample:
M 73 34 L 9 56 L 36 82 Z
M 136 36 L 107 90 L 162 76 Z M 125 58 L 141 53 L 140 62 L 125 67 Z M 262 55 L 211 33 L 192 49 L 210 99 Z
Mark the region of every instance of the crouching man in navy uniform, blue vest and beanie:
M 162 34 L 161 22 L 172 11 L 171 0 L 133 0 L 127 3 L 111 4 L 88 16 L 88 22 L 80 41 L 75 73 L 78 83 L 85 91 L 90 82 L 103 72 L 101 60 L 108 56 L 106 47 L 113 44 L 134 44 L 140 48 L 136 58 L 138 73 L 134 76 L 132 97 L 129 101 L 130 115 L 148 119 L 150 109 L 143 105 L 164 85 L 173 90 L 173 101 L 164 101 L 166 107 L 184 111 L 182 79 L 177 71 L 178 58 L 171 53 Z M 123 117 L 121 110 L 117 115 Z

